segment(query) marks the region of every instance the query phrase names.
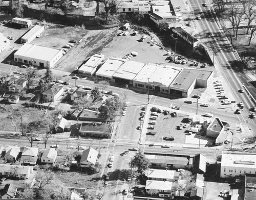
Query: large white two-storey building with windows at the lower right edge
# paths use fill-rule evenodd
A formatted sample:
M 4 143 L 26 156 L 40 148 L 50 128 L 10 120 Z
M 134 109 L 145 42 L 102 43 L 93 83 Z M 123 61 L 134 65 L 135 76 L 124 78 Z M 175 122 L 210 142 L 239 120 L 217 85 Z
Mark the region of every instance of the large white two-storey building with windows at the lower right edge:
M 256 174 L 256 154 L 242 152 L 222 152 L 221 178 Z

